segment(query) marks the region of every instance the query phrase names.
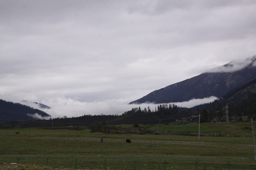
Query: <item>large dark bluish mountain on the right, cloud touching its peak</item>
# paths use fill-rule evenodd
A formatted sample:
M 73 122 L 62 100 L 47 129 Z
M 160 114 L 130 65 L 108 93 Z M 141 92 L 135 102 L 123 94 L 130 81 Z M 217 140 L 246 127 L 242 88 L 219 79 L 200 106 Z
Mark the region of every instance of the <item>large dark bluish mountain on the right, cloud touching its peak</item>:
M 253 56 L 245 60 L 231 61 L 201 75 L 155 90 L 129 104 L 184 102 L 193 98 L 220 97 L 255 78 L 256 56 Z

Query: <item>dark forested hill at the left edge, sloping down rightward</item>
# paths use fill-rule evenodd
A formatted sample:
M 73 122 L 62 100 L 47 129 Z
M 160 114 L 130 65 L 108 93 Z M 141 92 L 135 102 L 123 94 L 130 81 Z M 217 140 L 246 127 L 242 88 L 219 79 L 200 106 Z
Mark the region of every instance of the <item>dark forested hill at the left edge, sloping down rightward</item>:
M 34 109 L 20 103 L 7 102 L 0 99 L 0 123 L 7 122 L 9 120 L 36 119 L 35 117 L 31 116 L 35 116 L 36 113 L 41 117 L 50 117 L 49 114 L 42 110 Z

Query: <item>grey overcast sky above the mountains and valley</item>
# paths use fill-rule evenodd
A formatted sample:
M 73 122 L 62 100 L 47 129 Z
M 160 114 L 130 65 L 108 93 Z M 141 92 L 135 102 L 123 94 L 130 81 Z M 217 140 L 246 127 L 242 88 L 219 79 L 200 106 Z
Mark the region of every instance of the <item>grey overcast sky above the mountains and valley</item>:
M 255 17 L 256 0 L 0 0 L 0 98 L 52 117 L 122 114 L 255 55 Z

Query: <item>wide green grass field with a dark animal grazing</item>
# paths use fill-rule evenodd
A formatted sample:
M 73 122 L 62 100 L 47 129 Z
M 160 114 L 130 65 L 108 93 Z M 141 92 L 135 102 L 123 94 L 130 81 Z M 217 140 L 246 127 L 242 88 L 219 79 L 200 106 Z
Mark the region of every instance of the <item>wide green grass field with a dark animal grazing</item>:
M 140 127 L 158 131 L 198 132 L 198 124 Z M 250 122 L 202 123 L 200 129 L 204 134 L 224 135 L 200 136 L 199 141 L 198 135 L 170 133 L 138 135 L 90 133 L 90 129 L 0 129 L 0 162 L 80 169 L 256 168 Z M 126 143 L 126 139 L 132 143 Z

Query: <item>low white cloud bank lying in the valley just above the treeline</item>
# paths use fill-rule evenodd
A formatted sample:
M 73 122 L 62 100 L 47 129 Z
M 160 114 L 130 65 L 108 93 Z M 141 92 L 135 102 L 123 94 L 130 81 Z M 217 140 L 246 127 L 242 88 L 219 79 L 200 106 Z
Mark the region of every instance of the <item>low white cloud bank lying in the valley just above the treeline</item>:
M 185 102 L 176 102 L 174 104 L 180 107 L 193 107 L 199 104 L 213 102 L 217 97 L 211 96 L 204 99 L 191 99 Z M 159 104 L 143 103 L 143 104 L 127 104 L 128 101 L 125 99 L 119 100 L 106 100 L 103 102 L 80 102 L 73 99 L 57 99 L 57 101 L 50 101 L 53 103 L 53 107 L 50 110 L 45 110 L 46 113 L 52 115 L 52 117 L 73 117 L 82 115 L 121 115 L 125 111 L 131 110 L 132 108 L 141 109 L 150 107 L 151 110 L 155 110 Z M 173 103 L 171 103 L 173 104 Z

